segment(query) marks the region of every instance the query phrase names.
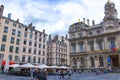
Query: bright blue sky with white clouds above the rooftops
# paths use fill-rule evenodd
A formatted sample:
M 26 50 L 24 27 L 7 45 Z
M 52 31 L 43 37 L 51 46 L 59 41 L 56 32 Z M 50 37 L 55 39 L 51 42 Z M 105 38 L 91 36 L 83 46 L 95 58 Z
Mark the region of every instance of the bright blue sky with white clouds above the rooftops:
M 104 5 L 108 0 L 0 0 L 4 5 L 3 16 L 12 14 L 12 19 L 33 26 L 39 31 L 45 29 L 46 34 L 65 35 L 73 23 L 83 18 L 95 20 L 99 24 L 104 18 Z M 118 18 L 120 17 L 120 1 L 115 3 Z

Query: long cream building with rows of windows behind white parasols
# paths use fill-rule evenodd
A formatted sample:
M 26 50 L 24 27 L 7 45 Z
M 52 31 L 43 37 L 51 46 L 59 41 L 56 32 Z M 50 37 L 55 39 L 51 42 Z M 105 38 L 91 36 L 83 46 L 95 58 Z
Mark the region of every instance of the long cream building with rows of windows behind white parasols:
M 3 9 L 1 9 L 3 7 Z M 0 7 L 0 60 L 16 63 L 46 64 L 47 34 L 35 26 L 22 24 L 2 16 L 4 6 Z

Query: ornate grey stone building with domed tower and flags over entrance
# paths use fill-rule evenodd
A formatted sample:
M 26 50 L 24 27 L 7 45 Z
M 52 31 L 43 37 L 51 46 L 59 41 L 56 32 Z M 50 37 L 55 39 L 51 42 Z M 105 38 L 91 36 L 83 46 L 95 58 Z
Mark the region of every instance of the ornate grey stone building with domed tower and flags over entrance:
M 69 28 L 70 65 L 73 69 L 120 68 L 120 19 L 113 2 L 104 6 L 100 24 L 83 21 Z

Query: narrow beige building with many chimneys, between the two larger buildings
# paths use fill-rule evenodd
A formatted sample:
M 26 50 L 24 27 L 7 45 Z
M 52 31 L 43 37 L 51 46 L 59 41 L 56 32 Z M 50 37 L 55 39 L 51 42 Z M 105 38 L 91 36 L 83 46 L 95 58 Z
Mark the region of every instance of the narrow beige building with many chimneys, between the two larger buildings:
M 54 38 L 49 35 L 47 41 L 47 64 L 57 66 L 69 66 L 69 42 L 66 37 L 59 37 L 56 35 Z

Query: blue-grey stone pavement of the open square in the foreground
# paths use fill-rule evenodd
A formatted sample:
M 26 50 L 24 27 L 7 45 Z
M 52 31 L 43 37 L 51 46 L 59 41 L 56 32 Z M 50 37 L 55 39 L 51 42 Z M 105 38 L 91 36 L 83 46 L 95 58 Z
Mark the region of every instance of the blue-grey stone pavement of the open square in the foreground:
M 65 79 L 60 79 L 60 76 L 48 76 L 48 80 L 70 80 L 68 76 Z M 0 75 L 0 80 L 31 80 L 30 77 Z M 71 80 L 120 80 L 120 73 L 109 73 L 95 76 L 92 73 L 74 73 Z

